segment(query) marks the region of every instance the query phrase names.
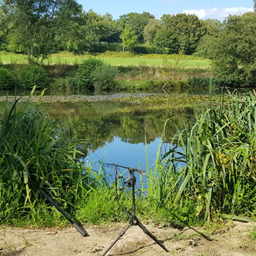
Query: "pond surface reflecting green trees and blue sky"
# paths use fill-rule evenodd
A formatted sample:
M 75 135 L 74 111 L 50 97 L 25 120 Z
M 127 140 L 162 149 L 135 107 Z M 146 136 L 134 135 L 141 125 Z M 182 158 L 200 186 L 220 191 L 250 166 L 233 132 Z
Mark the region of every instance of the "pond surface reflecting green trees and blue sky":
M 52 116 L 86 138 L 89 159 L 145 168 L 145 140 L 148 161 L 154 163 L 166 120 L 166 142 L 184 125 L 193 125 L 194 109 L 120 102 L 54 103 L 47 105 Z

